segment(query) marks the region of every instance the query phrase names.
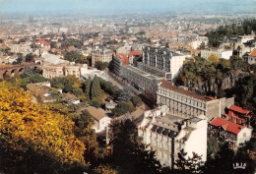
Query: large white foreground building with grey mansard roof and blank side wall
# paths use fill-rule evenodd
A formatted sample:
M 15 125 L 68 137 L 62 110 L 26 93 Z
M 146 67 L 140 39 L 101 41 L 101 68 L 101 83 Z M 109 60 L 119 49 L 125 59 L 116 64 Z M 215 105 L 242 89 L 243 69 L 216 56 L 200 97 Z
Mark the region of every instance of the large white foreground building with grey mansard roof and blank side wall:
M 156 157 L 164 166 L 174 168 L 178 152 L 184 149 L 187 157 L 193 152 L 207 160 L 207 119 L 204 115 L 182 119 L 168 113 L 166 106 L 144 113 L 138 126 L 138 134 L 145 145 L 156 151 Z

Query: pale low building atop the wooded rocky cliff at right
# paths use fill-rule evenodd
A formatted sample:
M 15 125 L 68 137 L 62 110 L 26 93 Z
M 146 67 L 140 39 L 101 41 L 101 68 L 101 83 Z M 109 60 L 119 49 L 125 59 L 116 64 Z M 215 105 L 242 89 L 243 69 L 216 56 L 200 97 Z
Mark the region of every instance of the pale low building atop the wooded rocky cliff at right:
M 201 50 L 201 57 L 208 59 L 209 56 L 216 55 L 218 58 L 229 59 L 232 55 L 232 50 L 224 50 L 224 49 L 203 49 Z

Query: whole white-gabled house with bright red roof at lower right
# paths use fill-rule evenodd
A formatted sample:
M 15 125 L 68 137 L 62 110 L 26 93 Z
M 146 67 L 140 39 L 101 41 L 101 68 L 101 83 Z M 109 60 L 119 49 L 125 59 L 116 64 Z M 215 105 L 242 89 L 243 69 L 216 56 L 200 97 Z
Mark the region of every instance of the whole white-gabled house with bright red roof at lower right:
M 224 138 L 232 147 L 249 142 L 252 136 L 252 129 L 235 124 L 221 117 L 214 118 L 209 125 L 211 135 Z

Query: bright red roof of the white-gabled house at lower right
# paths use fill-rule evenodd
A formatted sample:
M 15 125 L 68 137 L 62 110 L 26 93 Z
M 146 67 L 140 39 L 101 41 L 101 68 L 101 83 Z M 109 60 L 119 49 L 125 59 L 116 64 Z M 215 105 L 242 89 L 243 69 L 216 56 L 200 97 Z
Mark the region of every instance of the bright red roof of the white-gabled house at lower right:
M 216 127 L 222 126 L 225 131 L 233 134 L 238 134 L 244 128 L 241 125 L 229 122 L 220 117 L 216 117 L 215 119 L 213 119 L 210 124 Z

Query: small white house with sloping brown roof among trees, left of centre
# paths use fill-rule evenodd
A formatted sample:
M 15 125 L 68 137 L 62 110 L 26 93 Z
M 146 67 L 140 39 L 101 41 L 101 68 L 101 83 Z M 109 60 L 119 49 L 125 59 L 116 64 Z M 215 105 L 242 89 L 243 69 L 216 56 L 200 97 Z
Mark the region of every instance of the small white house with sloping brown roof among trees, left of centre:
M 105 111 L 101 108 L 97 109 L 93 106 L 87 107 L 87 110 L 95 119 L 95 125 L 93 128 L 96 130 L 96 133 L 106 131 L 111 123 L 111 118 L 105 114 Z

